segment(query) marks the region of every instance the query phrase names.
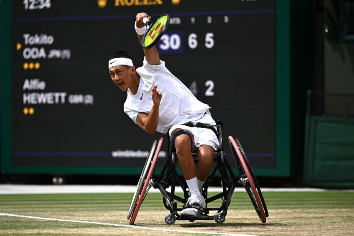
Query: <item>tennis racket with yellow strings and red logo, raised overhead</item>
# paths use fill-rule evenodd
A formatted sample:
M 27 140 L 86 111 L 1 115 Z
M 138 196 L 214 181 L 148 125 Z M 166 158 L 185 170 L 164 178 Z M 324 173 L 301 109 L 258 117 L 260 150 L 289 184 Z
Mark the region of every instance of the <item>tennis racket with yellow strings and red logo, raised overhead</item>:
M 162 35 L 164 35 L 167 26 L 170 24 L 170 16 L 165 13 L 161 14 L 153 22 L 145 17 L 143 22 L 147 28 L 143 38 L 143 47 L 150 48 L 159 41 Z

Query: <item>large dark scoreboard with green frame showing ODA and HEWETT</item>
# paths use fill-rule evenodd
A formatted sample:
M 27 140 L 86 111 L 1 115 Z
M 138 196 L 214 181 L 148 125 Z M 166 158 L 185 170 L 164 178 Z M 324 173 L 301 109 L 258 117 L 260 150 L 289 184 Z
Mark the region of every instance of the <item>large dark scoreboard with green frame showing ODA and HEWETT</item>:
M 227 157 L 232 135 L 256 170 L 277 168 L 275 0 L 10 5 L 11 155 L 2 152 L 1 168 L 8 167 L 3 172 L 139 174 L 158 137 L 165 138 L 160 159 L 166 158 L 166 134 L 145 133 L 124 113 L 126 92 L 113 84 L 107 68 L 110 54 L 120 50 L 142 66 L 134 29 L 138 12 L 170 15 L 156 45 L 160 59 L 209 104 L 214 120 L 223 121 Z

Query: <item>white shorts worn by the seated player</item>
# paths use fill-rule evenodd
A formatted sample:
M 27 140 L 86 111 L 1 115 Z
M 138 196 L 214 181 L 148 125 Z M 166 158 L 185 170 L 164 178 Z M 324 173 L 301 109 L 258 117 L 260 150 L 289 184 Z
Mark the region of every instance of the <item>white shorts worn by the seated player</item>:
M 205 123 L 209 125 L 216 125 L 215 121 L 211 117 L 210 113 L 204 114 L 199 120 L 191 121 L 192 123 Z M 169 136 L 171 138 L 171 133 L 177 129 L 185 129 L 188 130 L 194 136 L 195 146 L 198 148 L 200 145 L 209 145 L 217 150 L 219 148 L 219 138 L 215 135 L 215 133 L 208 128 L 197 128 L 197 127 L 189 127 L 186 125 L 173 125 L 169 131 Z M 216 128 L 216 127 L 215 127 Z

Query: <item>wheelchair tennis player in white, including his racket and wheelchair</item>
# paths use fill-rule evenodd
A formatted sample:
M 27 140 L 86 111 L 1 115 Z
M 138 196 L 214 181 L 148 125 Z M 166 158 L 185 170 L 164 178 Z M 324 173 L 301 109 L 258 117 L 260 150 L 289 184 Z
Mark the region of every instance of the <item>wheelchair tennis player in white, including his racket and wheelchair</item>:
M 157 147 L 157 141 L 154 142 L 145 162 L 127 219 L 130 219 L 130 224 L 134 223 L 145 192 L 153 186 L 161 191 L 164 205 L 170 211 L 170 214 L 165 217 L 167 224 L 173 224 L 176 219 L 190 221 L 215 219 L 216 222 L 223 223 L 233 190 L 236 186 L 245 186 L 259 217 L 262 222 L 265 222 L 265 217 L 268 215 L 267 208 L 249 161 L 238 140 L 229 137 L 240 174 L 240 177 L 236 178 L 225 159 L 221 123 L 216 124 L 209 112 L 209 105 L 200 102 L 177 77 L 167 70 L 165 62 L 160 60 L 154 44 L 165 32 L 169 22 L 170 17 L 167 14 L 161 14 L 155 21 L 150 22 L 150 17 L 146 13 L 138 13 L 135 28 L 139 42 L 144 49 L 144 65 L 135 69 L 131 56 L 124 51 L 113 53 L 108 62 L 109 74 L 113 82 L 122 91 L 127 91 L 124 112 L 144 131 L 148 133 L 167 132 L 171 137 L 167 163 L 156 180 L 153 179 L 153 170 L 163 139 L 160 139 Z M 158 87 L 161 91 L 157 90 Z M 162 98 L 162 93 L 164 98 Z M 167 131 L 169 128 L 170 132 Z M 198 171 L 194 166 L 194 163 L 198 161 L 193 161 L 193 155 L 190 152 L 194 148 L 198 152 L 198 154 L 193 153 L 199 159 Z M 216 155 L 214 160 L 217 162 L 214 169 L 213 154 Z M 177 175 L 177 156 L 179 166 L 187 180 Z M 217 170 L 222 175 L 223 192 L 208 198 L 207 189 Z M 199 182 L 196 177 L 198 174 L 201 175 Z M 176 181 L 182 186 L 184 198 L 175 196 Z M 171 183 L 171 192 L 166 190 L 169 183 Z M 190 196 L 188 190 L 191 193 Z M 207 207 L 207 203 L 218 198 L 223 200 L 221 207 Z M 175 200 L 184 203 L 183 208 L 177 208 Z M 209 216 L 209 211 L 214 210 L 217 213 Z M 181 213 L 178 213 L 179 211 Z

